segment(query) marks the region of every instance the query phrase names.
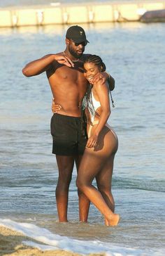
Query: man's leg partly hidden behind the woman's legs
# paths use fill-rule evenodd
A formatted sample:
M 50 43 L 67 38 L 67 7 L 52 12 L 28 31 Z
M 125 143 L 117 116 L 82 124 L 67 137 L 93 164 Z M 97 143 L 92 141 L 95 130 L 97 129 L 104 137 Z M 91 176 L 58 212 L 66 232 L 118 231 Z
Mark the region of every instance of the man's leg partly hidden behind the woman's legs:
M 75 157 L 77 172 L 78 172 L 78 168 L 80 166 L 81 159 L 82 159 L 82 155 L 78 155 L 78 156 Z M 80 222 L 87 222 L 90 201 L 85 196 L 85 194 L 82 193 L 79 189 L 78 189 L 78 199 L 79 199 L 79 219 L 80 219 Z

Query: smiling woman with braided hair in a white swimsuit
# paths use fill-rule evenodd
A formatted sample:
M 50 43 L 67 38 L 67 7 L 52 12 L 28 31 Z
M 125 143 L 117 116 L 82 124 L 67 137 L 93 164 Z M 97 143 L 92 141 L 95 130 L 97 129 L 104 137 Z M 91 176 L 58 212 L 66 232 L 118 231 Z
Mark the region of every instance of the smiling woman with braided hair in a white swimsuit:
M 92 84 L 98 72 L 106 70 L 106 65 L 96 55 L 89 56 L 84 64 L 85 77 L 89 88 L 84 99 L 87 117 L 88 141 L 82 156 L 76 184 L 80 191 L 98 208 L 105 218 L 106 226 L 116 226 L 120 215 L 114 213 L 115 202 L 111 192 L 113 162 L 118 141 L 113 129 L 107 124 L 110 115 L 108 84 Z M 96 178 L 96 189 L 92 181 Z

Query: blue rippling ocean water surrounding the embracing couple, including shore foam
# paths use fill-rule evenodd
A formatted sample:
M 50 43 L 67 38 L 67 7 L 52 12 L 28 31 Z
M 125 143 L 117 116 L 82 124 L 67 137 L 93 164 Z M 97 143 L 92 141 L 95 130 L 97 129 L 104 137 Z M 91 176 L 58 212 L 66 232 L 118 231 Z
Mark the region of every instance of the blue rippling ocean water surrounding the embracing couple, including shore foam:
M 63 51 L 67 25 L 0 30 L 0 224 L 36 238 L 40 248 L 44 242 L 44 250 L 164 255 L 165 23 L 83 27 L 90 42 L 85 52 L 99 54 L 116 82 L 115 108 L 108 122 L 119 139 L 113 195 L 120 224 L 104 226 L 94 205 L 89 222 L 78 222 L 76 169 L 69 191 L 69 223 L 57 222 L 52 95 L 45 74 L 27 78 L 22 68 Z

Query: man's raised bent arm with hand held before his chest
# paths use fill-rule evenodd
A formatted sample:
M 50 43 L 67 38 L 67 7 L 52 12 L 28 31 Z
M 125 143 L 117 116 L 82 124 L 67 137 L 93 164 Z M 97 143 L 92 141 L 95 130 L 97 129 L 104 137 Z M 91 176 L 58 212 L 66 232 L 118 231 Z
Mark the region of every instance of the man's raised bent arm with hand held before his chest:
M 64 54 L 48 54 L 43 58 L 31 61 L 22 69 L 23 75 L 26 77 L 33 77 L 34 75 L 39 75 L 48 69 L 50 69 L 52 63 L 57 61 L 60 64 L 67 65 L 68 67 L 73 67 L 73 62 Z

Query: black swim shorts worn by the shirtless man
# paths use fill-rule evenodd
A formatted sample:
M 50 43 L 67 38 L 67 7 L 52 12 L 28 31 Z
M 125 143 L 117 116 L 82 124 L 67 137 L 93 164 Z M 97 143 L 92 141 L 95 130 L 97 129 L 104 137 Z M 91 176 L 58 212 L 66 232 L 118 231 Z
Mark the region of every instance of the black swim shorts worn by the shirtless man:
M 83 127 L 83 128 L 82 128 Z M 51 119 L 52 153 L 56 155 L 82 155 L 87 143 L 86 129 L 81 117 L 55 113 Z

